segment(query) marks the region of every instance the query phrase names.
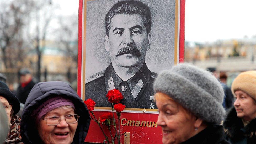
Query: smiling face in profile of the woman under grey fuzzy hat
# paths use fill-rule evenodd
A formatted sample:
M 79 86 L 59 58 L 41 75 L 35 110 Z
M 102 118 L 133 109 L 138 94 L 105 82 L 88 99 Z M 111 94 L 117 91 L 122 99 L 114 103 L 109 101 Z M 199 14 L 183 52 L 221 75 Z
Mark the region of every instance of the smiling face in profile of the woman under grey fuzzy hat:
M 156 93 L 156 95 L 169 98 L 156 101 L 159 110 L 157 125 L 162 127 L 162 142 L 181 143 L 191 138 L 195 131 L 195 116 L 166 94 Z

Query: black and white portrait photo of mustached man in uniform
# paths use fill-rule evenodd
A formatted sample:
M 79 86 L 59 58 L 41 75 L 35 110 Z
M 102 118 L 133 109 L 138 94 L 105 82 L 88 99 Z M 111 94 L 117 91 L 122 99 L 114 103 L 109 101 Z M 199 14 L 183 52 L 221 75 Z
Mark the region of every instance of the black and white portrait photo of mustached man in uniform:
M 157 109 L 154 80 L 175 64 L 175 0 L 92 0 L 84 8 L 85 100 L 111 107 L 106 95 L 118 89 L 126 108 Z

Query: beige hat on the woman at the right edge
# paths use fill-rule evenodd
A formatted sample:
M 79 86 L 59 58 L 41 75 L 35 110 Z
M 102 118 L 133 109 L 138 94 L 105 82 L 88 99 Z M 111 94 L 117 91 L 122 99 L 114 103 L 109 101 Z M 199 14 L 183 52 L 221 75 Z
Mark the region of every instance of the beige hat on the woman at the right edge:
M 256 100 L 256 71 L 246 71 L 240 73 L 233 81 L 231 91 L 235 96 L 235 91 L 242 90 Z

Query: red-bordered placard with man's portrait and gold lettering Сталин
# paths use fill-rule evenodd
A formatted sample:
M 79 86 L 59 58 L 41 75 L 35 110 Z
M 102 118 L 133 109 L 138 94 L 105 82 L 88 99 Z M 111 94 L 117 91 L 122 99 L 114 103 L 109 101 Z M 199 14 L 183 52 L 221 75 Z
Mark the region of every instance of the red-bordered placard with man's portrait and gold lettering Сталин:
M 79 0 L 78 95 L 96 102 L 98 119 L 112 111 L 107 92 L 118 89 L 126 105 L 120 133 L 130 132 L 132 144 L 162 143 L 153 83 L 157 73 L 184 62 L 184 30 L 185 0 Z M 91 121 L 85 141 L 104 139 Z

